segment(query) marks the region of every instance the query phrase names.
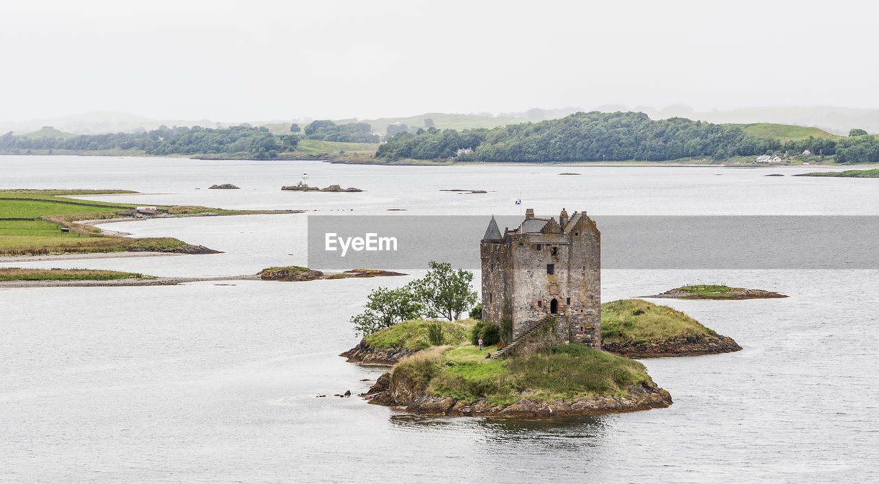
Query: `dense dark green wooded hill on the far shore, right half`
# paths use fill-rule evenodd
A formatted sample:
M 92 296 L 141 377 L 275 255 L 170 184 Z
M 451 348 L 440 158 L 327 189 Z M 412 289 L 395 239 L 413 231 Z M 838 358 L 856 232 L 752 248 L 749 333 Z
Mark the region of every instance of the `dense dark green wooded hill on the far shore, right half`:
M 637 112 L 578 112 L 562 119 L 506 125 L 494 129 L 418 130 L 389 137 L 376 156 L 385 160 L 433 160 L 456 156 L 478 161 L 665 161 L 691 157 L 724 160 L 788 150 L 790 154 L 837 154 L 837 160 L 866 162 L 873 137 L 804 139 L 781 143 L 757 138 L 734 125 L 714 125 L 681 117 L 653 120 Z M 837 153 L 839 150 L 839 153 Z M 863 153 L 862 153 L 863 152 Z M 842 160 L 840 160 L 840 157 Z

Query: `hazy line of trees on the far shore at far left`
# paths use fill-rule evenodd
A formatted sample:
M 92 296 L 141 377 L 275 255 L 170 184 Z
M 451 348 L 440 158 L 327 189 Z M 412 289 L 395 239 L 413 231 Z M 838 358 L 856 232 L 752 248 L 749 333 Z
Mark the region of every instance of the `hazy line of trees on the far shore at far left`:
M 28 138 L 0 136 L 0 152 L 22 153 L 26 150 L 98 151 L 138 149 L 147 154 L 247 154 L 258 160 L 270 159 L 283 151 L 292 151 L 299 137 L 290 134 L 274 136 L 264 127 L 232 126 L 229 128 L 202 128 L 200 126 L 160 126 L 150 132 L 118 132 L 113 134 L 82 135 L 73 138 Z

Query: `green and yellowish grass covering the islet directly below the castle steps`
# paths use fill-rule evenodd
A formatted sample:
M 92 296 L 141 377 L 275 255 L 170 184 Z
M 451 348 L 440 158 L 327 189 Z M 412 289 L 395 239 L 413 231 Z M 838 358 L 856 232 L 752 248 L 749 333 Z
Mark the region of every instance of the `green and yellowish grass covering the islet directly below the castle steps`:
M 527 398 L 551 402 L 591 395 L 626 395 L 650 376 L 634 359 L 585 345 L 556 345 L 540 352 L 485 359 L 489 350 L 473 345 L 434 346 L 403 359 L 392 379 L 410 382 L 414 391 L 448 396 L 462 402 L 487 397 L 494 405 Z

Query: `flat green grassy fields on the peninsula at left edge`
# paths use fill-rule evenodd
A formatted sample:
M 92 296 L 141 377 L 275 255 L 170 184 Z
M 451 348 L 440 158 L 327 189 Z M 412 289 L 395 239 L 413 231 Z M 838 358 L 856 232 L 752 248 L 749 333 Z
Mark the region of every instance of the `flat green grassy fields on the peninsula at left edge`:
M 177 238 L 126 238 L 95 226 L 162 217 L 210 217 L 300 213 L 301 210 L 221 210 L 200 206 L 160 206 L 155 212 L 128 203 L 92 202 L 66 196 L 116 195 L 131 190 L 0 190 L 0 256 L 61 253 L 219 253 Z

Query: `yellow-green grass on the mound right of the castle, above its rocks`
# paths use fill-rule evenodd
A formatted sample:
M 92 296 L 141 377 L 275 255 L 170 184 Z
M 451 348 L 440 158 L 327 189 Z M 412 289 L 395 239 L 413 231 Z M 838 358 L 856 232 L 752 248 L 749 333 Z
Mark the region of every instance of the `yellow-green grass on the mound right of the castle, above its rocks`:
M 713 335 L 692 317 L 642 299 L 601 304 L 601 342 L 646 345 L 687 336 Z

